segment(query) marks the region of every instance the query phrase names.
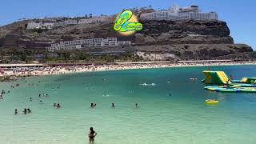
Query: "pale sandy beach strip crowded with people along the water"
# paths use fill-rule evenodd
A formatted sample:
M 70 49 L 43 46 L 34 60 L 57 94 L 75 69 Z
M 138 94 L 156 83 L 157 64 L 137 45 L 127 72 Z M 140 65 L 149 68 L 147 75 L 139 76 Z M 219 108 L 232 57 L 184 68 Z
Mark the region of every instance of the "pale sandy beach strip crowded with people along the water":
M 11 65 L 11 64 L 10 64 Z M 50 76 L 58 74 L 77 74 L 113 70 L 146 70 L 175 67 L 196 67 L 196 66 L 242 66 L 256 65 L 256 62 L 211 62 L 211 63 L 118 63 L 89 66 L 55 66 L 55 67 L 19 67 L 2 70 L 0 73 L 1 82 L 17 80 L 26 77 Z

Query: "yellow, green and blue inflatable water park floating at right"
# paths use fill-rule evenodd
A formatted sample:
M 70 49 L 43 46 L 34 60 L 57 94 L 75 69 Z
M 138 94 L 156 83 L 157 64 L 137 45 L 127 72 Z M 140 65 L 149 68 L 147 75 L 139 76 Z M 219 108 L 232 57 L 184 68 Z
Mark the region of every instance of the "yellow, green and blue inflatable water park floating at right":
M 230 79 L 224 71 L 203 71 L 205 74 L 206 90 L 220 92 L 250 92 L 256 93 L 256 77 L 242 78 L 241 80 Z

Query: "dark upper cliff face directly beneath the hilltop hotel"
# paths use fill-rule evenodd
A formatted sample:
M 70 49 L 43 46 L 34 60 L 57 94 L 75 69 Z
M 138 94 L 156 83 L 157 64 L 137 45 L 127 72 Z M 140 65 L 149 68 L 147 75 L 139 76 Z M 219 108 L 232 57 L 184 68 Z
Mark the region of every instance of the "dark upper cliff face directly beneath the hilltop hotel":
M 136 34 L 138 45 L 151 44 L 233 44 L 226 22 L 145 21 Z

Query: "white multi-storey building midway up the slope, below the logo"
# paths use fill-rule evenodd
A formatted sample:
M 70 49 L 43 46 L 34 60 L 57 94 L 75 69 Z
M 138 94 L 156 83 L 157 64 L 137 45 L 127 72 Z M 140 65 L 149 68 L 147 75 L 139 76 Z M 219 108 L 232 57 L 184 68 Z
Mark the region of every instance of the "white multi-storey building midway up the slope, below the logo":
M 46 50 L 53 52 L 58 50 L 80 50 L 82 47 L 130 46 L 130 43 L 130 41 L 118 41 L 117 38 L 93 38 L 54 43 Z

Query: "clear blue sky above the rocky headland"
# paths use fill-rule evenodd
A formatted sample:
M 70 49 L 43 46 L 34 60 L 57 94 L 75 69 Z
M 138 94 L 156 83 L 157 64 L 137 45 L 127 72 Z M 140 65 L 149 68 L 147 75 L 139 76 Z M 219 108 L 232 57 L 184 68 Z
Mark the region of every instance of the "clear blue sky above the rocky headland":
M 245 43 L 256 50 L 255 0 L 1 0 L 0 26 L 19 18 L 118 14 L 122 9 L 153 6 L 155 10 L 198 5 L 202 11 L 215 11 L 227 22 L 235 43 Z

